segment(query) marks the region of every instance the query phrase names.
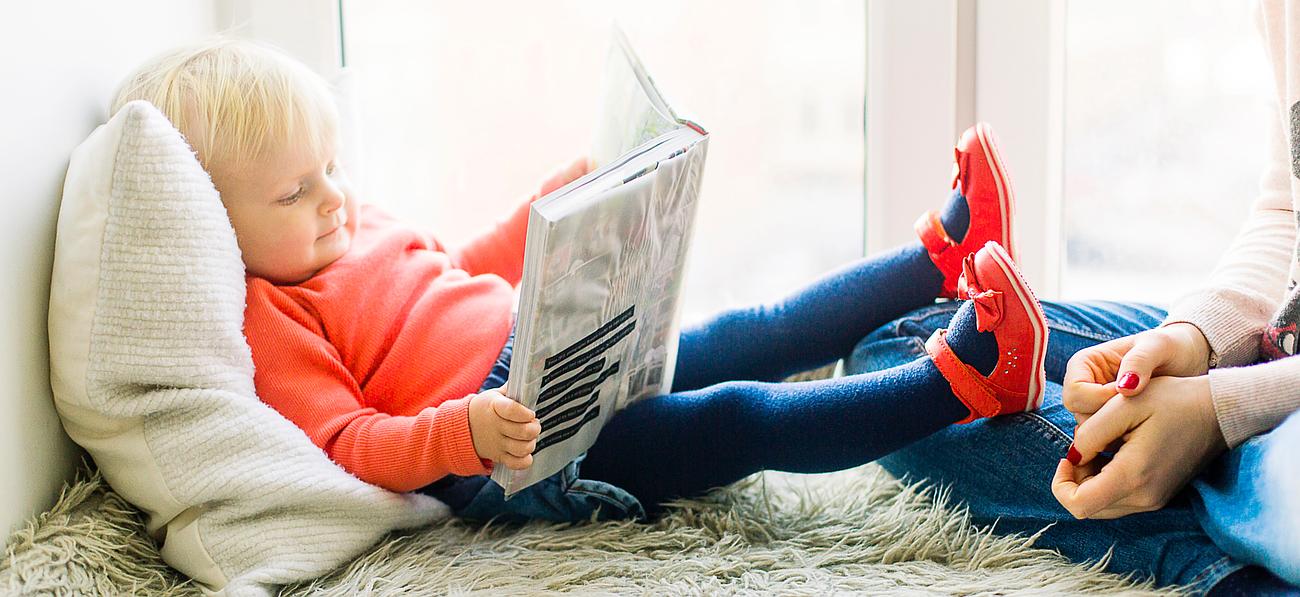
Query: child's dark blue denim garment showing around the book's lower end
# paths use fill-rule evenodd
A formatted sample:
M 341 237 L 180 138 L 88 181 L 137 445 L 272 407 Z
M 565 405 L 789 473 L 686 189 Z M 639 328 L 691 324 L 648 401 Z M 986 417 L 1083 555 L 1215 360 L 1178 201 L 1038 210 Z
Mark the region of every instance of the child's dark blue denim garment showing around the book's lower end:
M 510 377 L 510 358 L 514 351 L 515 332 L 500 350 L 491 372 L 478 391 L 506 385 Z M 585 455 L 568 463 L 560 472 L 506 499 L 506 492 L 484 475 L 462 477 L 447 475 L 424 488 L 420 493 L 433 496 L 451 507 L 460 518 L 471 520 L 551 520 L 558 523 L 606 519 L 645 518 L 645 509 L 630 493 L 604 481 L 578 476 Z

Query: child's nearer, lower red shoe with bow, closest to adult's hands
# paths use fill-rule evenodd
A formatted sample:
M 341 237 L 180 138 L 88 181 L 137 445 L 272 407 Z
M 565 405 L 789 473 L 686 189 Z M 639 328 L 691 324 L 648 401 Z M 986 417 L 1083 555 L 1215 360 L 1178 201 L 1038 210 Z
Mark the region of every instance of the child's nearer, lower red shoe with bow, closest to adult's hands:
M 992 241 L 968 255 L 959 291 L 975 302 L 975 328 L 997 339 L 997 367 L 988 376 L 962 363 L 948 346 L 946 329 L 926 341 L 953 394 L 971 411 L 959 423 L 1037 408 L 1046 386 L 1048 321 L 1011 256 Z

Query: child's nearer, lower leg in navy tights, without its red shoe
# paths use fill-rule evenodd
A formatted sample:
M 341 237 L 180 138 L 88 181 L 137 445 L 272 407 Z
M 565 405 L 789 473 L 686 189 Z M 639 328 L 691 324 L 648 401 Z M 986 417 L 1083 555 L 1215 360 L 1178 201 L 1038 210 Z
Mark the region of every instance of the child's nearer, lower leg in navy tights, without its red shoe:
M 618 485 L 655 512 L 671 498 L 762 470 L 863 464 L 966 415 L 928 358 L 833 380 L 733 381 L 619 411 L 588 450 L 582 476 Z

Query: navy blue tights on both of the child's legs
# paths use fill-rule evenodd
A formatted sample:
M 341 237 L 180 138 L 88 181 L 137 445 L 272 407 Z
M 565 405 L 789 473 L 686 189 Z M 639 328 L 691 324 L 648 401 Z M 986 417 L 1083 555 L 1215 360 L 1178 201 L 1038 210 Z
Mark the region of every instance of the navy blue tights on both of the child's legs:
M 924 248 L 913 243 L 844 267 L 784 300 L 684 329 L 675 391 L 615 414 L 588 450 L 582 476 L 627 489 L 654 512 L 668 499 L 763 470 L 863 464 L 961 420 L 966 407 L 928 358 L 874 373 L 779 382 L 848 355 L 875 328 L 932 303 L 940 282 Z M 996 358 L 992 334 L 974 332 L 968 307 L 958 310 L 952 329 L 963 360 Z

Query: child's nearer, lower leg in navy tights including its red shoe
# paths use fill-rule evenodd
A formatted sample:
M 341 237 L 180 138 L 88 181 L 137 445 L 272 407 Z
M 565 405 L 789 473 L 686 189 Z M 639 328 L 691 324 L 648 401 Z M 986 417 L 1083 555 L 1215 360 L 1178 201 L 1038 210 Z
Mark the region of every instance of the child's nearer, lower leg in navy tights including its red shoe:
M 889 454 L 963 419 L 1041 398 L 1046 323 L 1010 256 L 989 243 L 966 263 L 972 300 L 890 369 L 798 384 L 733 381 L 647 398 L 615 414 L 584 476 L 647 511 L 762 470 L 828 472 Z

